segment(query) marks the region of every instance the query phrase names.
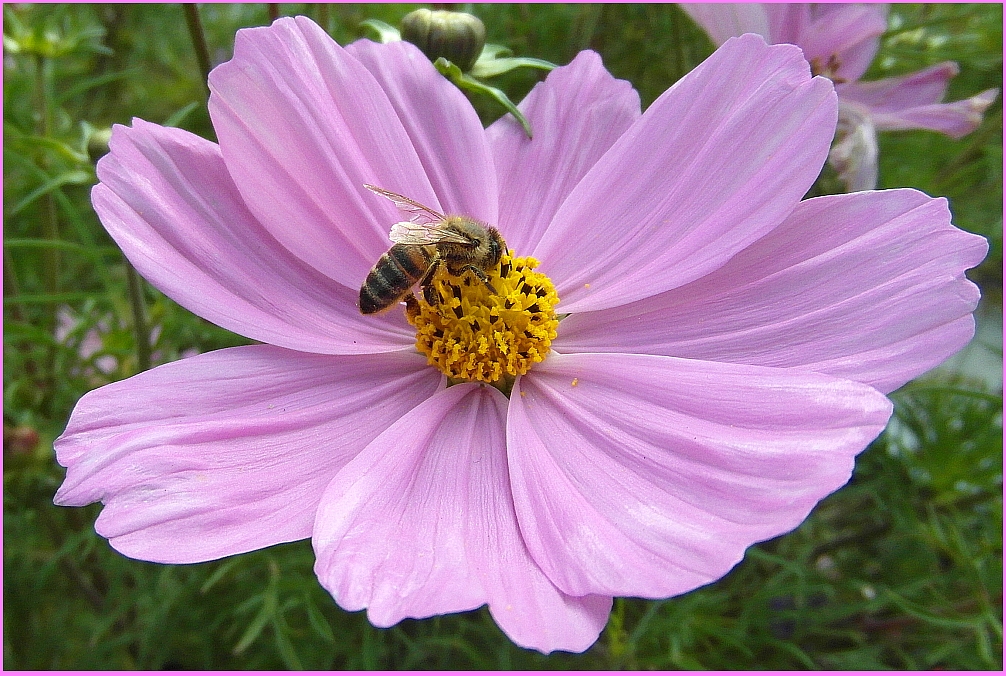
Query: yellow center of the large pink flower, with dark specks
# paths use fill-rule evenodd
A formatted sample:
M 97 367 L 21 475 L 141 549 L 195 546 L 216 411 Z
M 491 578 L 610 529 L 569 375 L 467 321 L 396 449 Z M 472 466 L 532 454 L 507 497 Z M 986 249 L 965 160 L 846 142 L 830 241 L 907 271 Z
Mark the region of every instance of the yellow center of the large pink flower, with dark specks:
M 555 338 L 559 302 L 538 262 L 507 251 L 486 271 L 496 293 L 471 271 L 452 275 L 441 266 L 431 281 L 431 300 L 409 301 L 415 347 L 455 381 L 479 380 L 505 392 L 513 378 L 545 358 Z

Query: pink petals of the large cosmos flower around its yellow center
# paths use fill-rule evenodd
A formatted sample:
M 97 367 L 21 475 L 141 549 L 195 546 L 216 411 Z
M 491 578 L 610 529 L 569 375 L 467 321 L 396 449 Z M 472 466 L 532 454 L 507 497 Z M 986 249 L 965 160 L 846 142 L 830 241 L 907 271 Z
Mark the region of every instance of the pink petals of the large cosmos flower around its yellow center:
M 268 344 L 80 399 L 55 500 L 102 501 L 128 556 L 311 537 L 376 626 L 488 605 L 521 646 L 582 651 L 613 597 L 694 589 L 796 527 L 883 430 L 882 392 L 974 332 L 987 244 L 946 200 L 800 201 L 837 104 L 793 46 L 728 40 L 645 114 L 582 52 L 521 104 L 533 140 L 483 129 L 412 45 L 305 18 L 239 31 L 210 87 L 219 146 L 116 127 L 93 201 L 151 283 Z M 562 319 L 512 389 L 448 386 L 402 312 L 360 314 L 400 220 L 365 183 L 540 261 Z

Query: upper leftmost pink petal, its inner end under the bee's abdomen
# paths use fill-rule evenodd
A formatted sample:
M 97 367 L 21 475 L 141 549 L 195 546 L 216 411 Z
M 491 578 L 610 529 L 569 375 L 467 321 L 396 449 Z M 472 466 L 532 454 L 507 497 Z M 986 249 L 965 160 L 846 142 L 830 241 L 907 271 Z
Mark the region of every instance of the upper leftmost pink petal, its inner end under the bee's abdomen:
M 364 318 L 358 290 L 319 274 L 255 219 L 216 145 L 133 125 L 115 127 L 92 201 L 154 286 L 214 324 L 291 349 L 381 352 L 412 342 L 400 313 Z

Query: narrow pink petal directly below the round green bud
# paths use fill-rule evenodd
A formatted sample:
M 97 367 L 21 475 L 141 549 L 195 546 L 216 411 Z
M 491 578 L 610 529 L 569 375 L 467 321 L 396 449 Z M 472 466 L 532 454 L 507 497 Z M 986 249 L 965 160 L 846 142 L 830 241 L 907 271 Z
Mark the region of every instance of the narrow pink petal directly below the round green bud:
M 346 52 L 384 90 L 444 211 L 495 223 L 493 160 L 482 122 L 465 95 L 408 42 L 357 40 Z M 401 220 L 400 214 L 394 220 Z

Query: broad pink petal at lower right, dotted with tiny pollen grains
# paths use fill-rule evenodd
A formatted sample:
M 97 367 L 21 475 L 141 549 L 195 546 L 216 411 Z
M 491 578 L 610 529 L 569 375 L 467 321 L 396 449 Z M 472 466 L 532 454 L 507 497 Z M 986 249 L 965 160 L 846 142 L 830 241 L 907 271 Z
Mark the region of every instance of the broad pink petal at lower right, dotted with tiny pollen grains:
M 795 528 L 890 412 L 876 390 L 816 373 L 553 354 L 510 399 L 520 530 L 566 594 L 683 594 Z

